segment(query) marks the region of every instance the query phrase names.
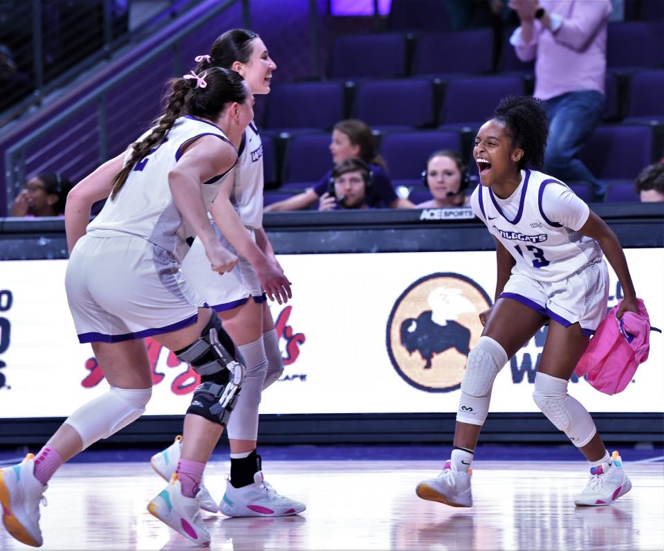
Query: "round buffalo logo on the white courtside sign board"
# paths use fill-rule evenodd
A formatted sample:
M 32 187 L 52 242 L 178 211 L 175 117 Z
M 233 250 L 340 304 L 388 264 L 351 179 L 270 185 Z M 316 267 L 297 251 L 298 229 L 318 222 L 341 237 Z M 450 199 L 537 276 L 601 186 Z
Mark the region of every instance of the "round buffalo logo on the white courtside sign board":
M 458 273 L 432 273 L 396 300 L 387 321 L 387 353 L 403 379 L 427 392 L 461 386 L 468 352 L 482 334 L 479 313 L 491 299 Z

